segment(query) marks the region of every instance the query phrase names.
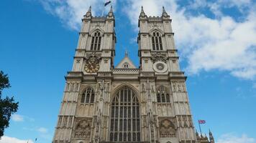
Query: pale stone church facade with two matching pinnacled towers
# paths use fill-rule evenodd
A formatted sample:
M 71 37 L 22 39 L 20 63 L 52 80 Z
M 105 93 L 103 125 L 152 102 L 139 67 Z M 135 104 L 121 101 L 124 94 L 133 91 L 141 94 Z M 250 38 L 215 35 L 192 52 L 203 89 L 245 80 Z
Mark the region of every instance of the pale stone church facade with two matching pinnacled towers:
M 214 143 L 192 121 L 170 16 L 140 12 L 139 68 L 128 54 L 114 66 L 116 34 L 107 16 L 83 16 L 73 69 L 65 77 L 53 143 Z

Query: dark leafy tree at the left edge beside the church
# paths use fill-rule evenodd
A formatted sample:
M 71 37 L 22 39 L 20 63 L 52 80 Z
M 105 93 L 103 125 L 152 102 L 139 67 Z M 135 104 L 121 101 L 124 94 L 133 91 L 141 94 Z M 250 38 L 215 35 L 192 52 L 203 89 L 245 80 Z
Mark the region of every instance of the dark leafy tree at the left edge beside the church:
M 2 99 L 3 89 L 11 87 L 7 74 L 0 71 L 0 139 L 4 135 L 4 129 L 9 127 L 9 120 L 14 112 L 17 112 L 19 102 L 14 102 L 14 97 L 5 97 Z

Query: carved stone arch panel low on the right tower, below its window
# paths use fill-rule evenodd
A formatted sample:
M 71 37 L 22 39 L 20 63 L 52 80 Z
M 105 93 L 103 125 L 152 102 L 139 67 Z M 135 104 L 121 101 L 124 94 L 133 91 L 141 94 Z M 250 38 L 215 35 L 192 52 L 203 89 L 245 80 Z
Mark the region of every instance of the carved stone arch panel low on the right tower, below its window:
M 160 122 L 160 137 L 175 137 L 175 125 L 169 119 Z

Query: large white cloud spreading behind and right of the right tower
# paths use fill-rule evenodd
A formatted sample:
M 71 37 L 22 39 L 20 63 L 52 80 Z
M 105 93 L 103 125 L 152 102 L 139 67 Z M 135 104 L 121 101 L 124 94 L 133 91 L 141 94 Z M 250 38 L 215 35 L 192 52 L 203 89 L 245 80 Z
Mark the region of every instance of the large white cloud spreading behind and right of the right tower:
M 225 1 L 228 3 L 228 1 Z M 229 1 L 232 2 L 232 1 Z M 255 79 L 256 77 L 256 15 L 250 9 L 244 21 L 222 15 L 209 18 L 205 14 L 193 16 L 172 0 L 129 0 L 125 12 L 134 26 L 144 6 L 147 16 L 160 16 L 162 6 L 173 19 L 173 31 L 177 48 L 188 61 L 186 71 L 197 74 L 200 71 L 218 69 L 229 71 L 235 77 Z M 248 1 L 250 3 L 250 1 Z M 219 3 L 216 6 L 219 10 Z M 233 3 L 232 3 L 233 4 Z M 240 4 L 240 3 L 237 3 Z M 247 3 L 239 6 L 246 6 Z M 206 6 L 206 2 L 198 4 Z M 250 7 L 255 7 L 251 4 Z

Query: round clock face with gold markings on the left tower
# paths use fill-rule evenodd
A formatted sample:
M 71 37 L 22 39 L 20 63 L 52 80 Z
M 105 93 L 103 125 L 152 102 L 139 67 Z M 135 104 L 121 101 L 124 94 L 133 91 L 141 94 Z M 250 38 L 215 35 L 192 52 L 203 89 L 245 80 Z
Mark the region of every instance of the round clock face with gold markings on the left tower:
M 99 71 L 99 60 L 95 57 L 91 57 L 86 61 L 86 65 L 84 66 L 84 70 L 87 73 L 95 73 Z

